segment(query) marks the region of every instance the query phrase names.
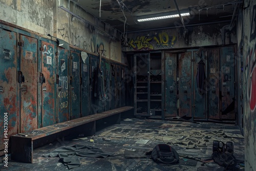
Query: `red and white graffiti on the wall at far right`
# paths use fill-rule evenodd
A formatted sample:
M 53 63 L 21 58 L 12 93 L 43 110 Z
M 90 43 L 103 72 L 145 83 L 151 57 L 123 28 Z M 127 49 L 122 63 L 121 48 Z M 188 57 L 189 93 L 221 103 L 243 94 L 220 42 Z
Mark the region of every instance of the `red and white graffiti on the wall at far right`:
M 247 99 L 250 110 L 256 109 L 256 5 L 253 6 L 253 16 L 251 22 L 250 40 L 248 42 L 248 51 L 245 61 L 245 82 L 247 84 Z

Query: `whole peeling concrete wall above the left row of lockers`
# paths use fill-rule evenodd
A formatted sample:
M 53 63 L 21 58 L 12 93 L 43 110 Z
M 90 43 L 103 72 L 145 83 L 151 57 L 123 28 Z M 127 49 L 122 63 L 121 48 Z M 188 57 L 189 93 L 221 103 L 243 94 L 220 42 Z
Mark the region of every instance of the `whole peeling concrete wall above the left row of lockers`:
M 63 8 L 82 17 L 72 17 Z M 70 45 L 121 62 L 120 33 L 69 0 L 0 0 L 5 22 L 52 35 Z

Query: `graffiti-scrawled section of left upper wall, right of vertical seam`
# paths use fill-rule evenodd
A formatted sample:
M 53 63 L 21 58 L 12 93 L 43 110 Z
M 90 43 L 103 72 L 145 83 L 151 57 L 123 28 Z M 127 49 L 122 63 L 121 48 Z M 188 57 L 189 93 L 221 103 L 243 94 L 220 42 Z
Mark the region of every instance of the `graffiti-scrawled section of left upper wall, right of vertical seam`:
M 79 6 L 71 3 L 69 10 L 82 18 L 89 18 L 89 21 L 81 21 L 58 8 L 57 38 L 75 47 L 121 62 L 121 42 L 99 29 L 102 28 L 102 23 L 96 18 L 92 21 Z

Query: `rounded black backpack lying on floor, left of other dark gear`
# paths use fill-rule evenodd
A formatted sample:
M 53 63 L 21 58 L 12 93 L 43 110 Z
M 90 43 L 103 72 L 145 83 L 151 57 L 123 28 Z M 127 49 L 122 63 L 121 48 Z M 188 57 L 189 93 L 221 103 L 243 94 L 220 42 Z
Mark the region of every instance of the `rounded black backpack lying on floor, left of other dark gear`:
M 167 144 L 158 144 L 151 153 L 152 159 L 157 163 L 174 164 L 179 162 L 179 155 L 175 149 Z

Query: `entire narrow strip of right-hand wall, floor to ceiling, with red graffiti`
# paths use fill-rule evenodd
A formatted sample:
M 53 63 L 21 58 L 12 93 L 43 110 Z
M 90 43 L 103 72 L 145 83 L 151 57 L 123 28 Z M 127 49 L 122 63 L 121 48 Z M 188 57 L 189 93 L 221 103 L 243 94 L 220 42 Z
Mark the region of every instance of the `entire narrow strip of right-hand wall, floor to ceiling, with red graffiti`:
M 244 2 L 245 170 L 256 170 L 256 1 Z

